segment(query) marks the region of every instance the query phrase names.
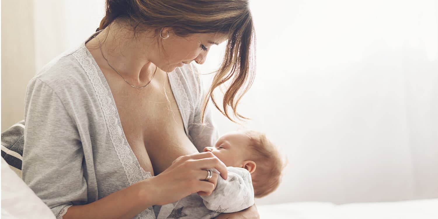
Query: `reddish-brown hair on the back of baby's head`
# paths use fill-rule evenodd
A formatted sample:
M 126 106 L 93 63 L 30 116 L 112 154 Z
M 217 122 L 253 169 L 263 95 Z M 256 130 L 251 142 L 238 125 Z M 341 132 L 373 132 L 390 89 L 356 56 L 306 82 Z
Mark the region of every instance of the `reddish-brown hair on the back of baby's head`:
M 251 174 L 254 197 L 261 198 L 279 186 L 284 168 L 283 159 L 265 134 L 257 131 L 245 131 L 245 134 L 251 139 L 251 159 L 256 162 L 255 171 Z

